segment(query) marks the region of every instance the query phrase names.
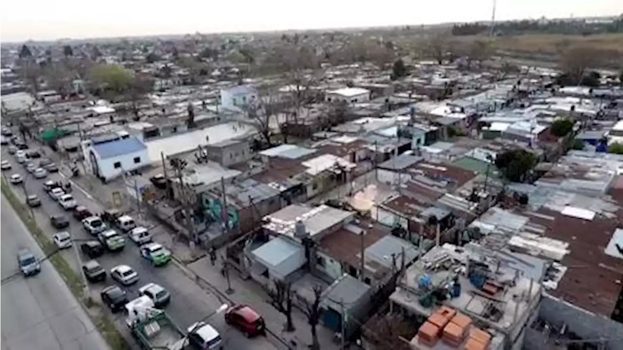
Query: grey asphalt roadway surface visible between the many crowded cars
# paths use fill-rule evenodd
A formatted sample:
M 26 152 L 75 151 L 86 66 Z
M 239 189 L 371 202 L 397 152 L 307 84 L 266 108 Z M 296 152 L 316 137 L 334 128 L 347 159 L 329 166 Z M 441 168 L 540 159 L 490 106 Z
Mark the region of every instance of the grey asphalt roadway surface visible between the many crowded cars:
M 7 171 L 7 176 L 13 173 L 20 173 L 22 176 L 27 174 L 24 167 L 21 164 L 17 164 L 13 156 L 7 154 L 6 146 L 2 146 L 2 149 L 0 149 L 0 159 L 7 159 L 13 165 L 13 169 L 11 171 Z M 54 181 L 62 179 L 63 181 L 67 181 L 67 179 L 62 177 L 61 174 L 50 174 L 48 179 L 52 179 Z M 55 201 L 47 196 L 43 189 L 44 182 L 44 179 L 37 180 L 32 176 L 28 176 L 26 180 L 26 191 L 28 194 L 37 194 L 37 196 L 39 196 L 42 200 L 42 207 L 34 209 L 34 212 L 36 214 L 37 222 L 39 222 L 39 226 L 42 227 L 44 232 L 49 234 L 50 239 L 56 231 L 49 224 L 48 217 L 50 214 L 64 214 L 70 217 L 71 225 L 69 231 L 74 239 L 85 240 L 93 238 L 82 229 L 82 225 L 80 225 L 77 220 L 74 220 L 70 213 L 65 212 Z M 103 211 L 102 207 L 100 207 L 100 205 L 88 193 L 82 191 L 77 186 L 73 186 L 73 189 L 74 191 L 72 191 L 72 194 L 78 204 L 88 207 L 93 212 Z M 17 196 L 23 200 L 24 192 L 22 191 L 21 186 L 14 187 L 14 190 Z M 62 252 L 62 254 L 73 267 L 78 269 L 78 259 L 74 250 L 66 250 Z M 211 314 L 212 311 L 222 305 L 222 301 L 219 300 L 217 296 L 206 293 L 205 290 L 196 285 L 193 280 L 186 277 L 186 275 L 184 275 L 184 273 L 181 272 L 181 270 L 179 270 L 179 268 L 175 265 L 169 264 L 166 267 L 160 268 L 151 267 L 150 263 L 140 256 L 138 248 L 133 245 L 129 239 L 126 239 L 126 248 L 123 252 L 106 253 L 103 257 L 100 257 L 97 260 L 108 271 L 110 271 L 110 268 L 115 265 L 125 264 L 130 265 L 136 270 L 136 272 L 138 272 L 140 281 L 136 285 L 126 288 L 130 294 L 130 298 L 132 296 L 138 296 L 138 288 L 150 282 L 158 283 L 169 290 L 172 295 L 172 301 L 171 304 L 167 306 L 166 311 L 168 311 L 169 315 L 171 315 L 171 317 L 184 328 L 195 323 L 197 320 L 204 318 L 206 315 Z M 108 283 L 111 283 L 110 280 Z M 93 298 L 95 298 L 95 300 L 100 300 L 99 291 L 104 285 L 98 284 L 90 286 Z M 115 315 L 119 328 L 126 331 L 123 318 L 124 316 L 121 314 Z M 224 323 L 222 315 L 215 315 L 208 321 L 215 328 L 219 329 L 228 348 L 239 350 L 274 349 L 272 344 L 270 344 L 266 338 L 244 338 L 239 331 L 227 326 L 227 324 Z M 2 350 L 2 348 L 0 348 L 0 350 Z

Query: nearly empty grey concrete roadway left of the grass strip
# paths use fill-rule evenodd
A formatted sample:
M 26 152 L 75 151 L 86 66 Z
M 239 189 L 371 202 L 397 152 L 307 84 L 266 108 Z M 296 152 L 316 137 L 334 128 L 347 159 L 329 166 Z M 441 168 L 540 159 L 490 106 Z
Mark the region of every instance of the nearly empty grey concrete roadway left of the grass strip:
M 26 247 L 43 257 L 34 239 L 0 196 L 0 278 L 18 272 L 16 252 Z M 34 277 L 0 284 L 0 349 L 109 349 L 50 262 Z

